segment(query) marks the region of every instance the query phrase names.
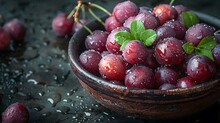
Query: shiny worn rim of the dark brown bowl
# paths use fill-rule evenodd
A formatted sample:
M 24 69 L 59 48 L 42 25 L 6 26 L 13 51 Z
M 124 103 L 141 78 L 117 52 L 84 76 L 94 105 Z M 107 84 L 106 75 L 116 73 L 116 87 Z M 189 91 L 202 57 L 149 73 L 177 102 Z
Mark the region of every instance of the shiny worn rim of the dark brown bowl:
M 201 12 L 195 12 L 200 20 L 205 21 L 207 24 L 211 24 L 214 25 L 216 28 L 220 28 L 220 19 L 201 13 Z M 105 20 L 108 16 L 104 16 L 101 19 Z M 97 20 L 93 20 L 90 23 L 87 24 L 88 27 L 91 27 L 91 29 L 95 29 L 97 25 L 100 25 L 99 22 Z M 209 92 L 212 88 L 215 87 L 219 87 L 220 86 L 220 80 L 210 80 L 208 82 L 204 82 L 201 84 L 198 84 L 194 87 L 190 87 L 190 88 L 176 88 L 176 89 L 171 89 L 171 90 L 159 90 L 159 89 L 137 89 L 137 88 L 128 88 L 126 86 L 122 86 L 122 85 L 116 85 L 113 84 L 111 82 L 109 82 L 108 80 L 105 80 L 101 77 L 97 77 L 95 75 L 93 75 L 92 73 L 88 72 L 87 70 L 85 70 L 79 63 L 78 61 L 78 56 L 74 53 L 77 52 L 76 49 L 74 49 L 74 45 L 76 43 L 77 38 L 79 38 L 79 36 L 82 33 L 86 33 L 87 35 L 89 34 L 84 28 L 78 30 L 77 32 L 75 32 L 75 34 L 72 36 L 72 38 L 70 39 L 69 42 L 69 46 L 68 46 L 68 58 L 69 61 L 72 65 L 72 67 L 74 67 L 77 72 L 79 72 L 80 74 L 82 74 L 84 77 L 89 78 L 94 84 L 94 86 L 98 86 L 98 85 L 102 85 L 105 86 L 107 88 L 111 88 L 113 90 L 116 90 L 119 93 L 134 93 L 134 94 L 144 94 L 144 93 L 154 93 L 156 95 L 189 95 L 189 94 L 196 94 L 196 93 L 202 93 L 202 92 Z M 85 39 L 85 38 L 84 38 Z M 78 54 L 79 55 L 79 54 Z M 79 75 L 77 75 L 76 73 L 74 73 L 77 78 L 82 79 Z M 88 84 L 88 83 L 87 83 Z M 212 91 L 210 91 L 209 93 L 211 93 Z

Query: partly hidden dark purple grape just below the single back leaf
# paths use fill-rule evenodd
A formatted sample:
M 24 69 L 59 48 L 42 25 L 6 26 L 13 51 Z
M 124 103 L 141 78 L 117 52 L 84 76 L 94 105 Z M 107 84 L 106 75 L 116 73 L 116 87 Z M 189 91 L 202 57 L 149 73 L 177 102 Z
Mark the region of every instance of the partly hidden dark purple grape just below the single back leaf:
M 179 21 L 176 20 L 170 20 L 163 24 L 163 26 L 169 26 L 174 29 L 176 32 L 176 38 L 178 39 L 184 39 L 186 34 L 186 26 L 181 24 Z

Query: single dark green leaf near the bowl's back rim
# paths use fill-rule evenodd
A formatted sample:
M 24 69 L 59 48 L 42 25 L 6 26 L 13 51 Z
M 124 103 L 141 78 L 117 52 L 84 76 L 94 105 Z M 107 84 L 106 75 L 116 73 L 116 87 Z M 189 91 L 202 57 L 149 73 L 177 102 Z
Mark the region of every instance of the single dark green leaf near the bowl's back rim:
M 187 28 L 199 23 L 199 17 L 193 12 L 187 11 L 183 12 L 181 15 L 183 23 Z

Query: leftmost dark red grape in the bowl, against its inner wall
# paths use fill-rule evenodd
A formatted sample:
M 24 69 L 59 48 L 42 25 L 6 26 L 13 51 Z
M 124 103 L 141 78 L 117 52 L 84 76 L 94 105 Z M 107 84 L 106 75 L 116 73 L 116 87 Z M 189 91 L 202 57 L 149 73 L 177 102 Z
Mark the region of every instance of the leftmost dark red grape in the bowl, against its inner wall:
M 95 50 L 86 50 L 80 54 L 79 63 L 90 73 L 99 75 L 98 64 L 101 58 L 102 56 L 99 52 Z

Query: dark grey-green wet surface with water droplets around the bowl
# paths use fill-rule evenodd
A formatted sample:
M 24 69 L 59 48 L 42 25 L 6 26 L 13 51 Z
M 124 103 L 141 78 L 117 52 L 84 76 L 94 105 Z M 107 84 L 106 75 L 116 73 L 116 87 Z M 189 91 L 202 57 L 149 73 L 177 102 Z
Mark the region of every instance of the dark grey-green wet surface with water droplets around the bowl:
M 93 1 L 108 10 L 112 10 L 112 6 L 118 2 Z M 139 6 L 151 7 L 162 0 L 134 2 Z M 219 0 L 176 2 L 220 18 Z M 51 30 L 51 22 L 56 14 L 60 11 L 69 13 L 74 6 L 70 0 L 0 0 L 0 14 L 4 19 L 18 18 L 28 29 L 23 42 L 12 44 L 8 51 L 0 53 L 0 92 L 4 94 L 1 112 L 9 104 L 18 101 L 28 108 L 30 123 L 220 122 L 220 102 L 194 116 L 168 121 L 121 116 L 98 104 L 82 88 L 70 69 L 67 57 L 70 37 L 56 37 Z M 2 20 L 0 22 L 3 23 Z

